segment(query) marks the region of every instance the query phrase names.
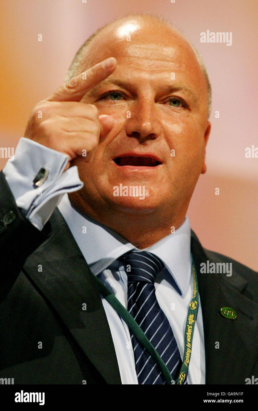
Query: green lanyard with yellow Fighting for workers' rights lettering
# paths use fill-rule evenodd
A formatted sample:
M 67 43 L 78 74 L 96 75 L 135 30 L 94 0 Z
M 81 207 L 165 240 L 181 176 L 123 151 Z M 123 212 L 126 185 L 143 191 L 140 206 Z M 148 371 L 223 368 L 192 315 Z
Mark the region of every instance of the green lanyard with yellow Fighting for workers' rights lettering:
M 90 271 L 91 272 L 91 271 Z M 192 339 L 194 333 L 194 323 L 197 316 L 198 311 L 198 304 L 199 304 L 199 293 L 198 293 L 198 283 L 197 283 L 197 276 L 196 276 L 196 268 L 194 266 L 194 262 L 192 263 L 192 274 L 194 277 L 194 293 L 192 296 L 192 300 L 189 305 L 188 315 L 187 315 L 187 324 L 185 327 L 185 353 L 183 358 L 183 364 L 180 369 L 179 377 L 177 380 L 177 384 L 183 384 L 185 379 L 187 378 L 188 373 L 188 366 L 190 363 L 191 351 L 192 351 Z M 100 294 L 110 303 L 110 305 L 116 310 L 116 312 L 121 316 L 121 318 L 126 322 L 130 330 L 132 330 L 133 334 L 135 335 L 136 339 L 139 341 L 142 346 L 148 351 L 150 356 L 155 360 L 157 365 L 160 367 L 160 370 L 167 382 L 167 384 L 174 384 L 174 380 L 167 368 L 167 365 L 164 363 L 158 352 L 155 350 L 154 346 L 148 340 L 142 329 L 139 327 L 135 319 L 129 314 L 127 309 L 121 304 L 121 302 L 114 296 L 114 294 L 103 284 L 100 279 L 96 277 L 91 272 L 98 290 Z

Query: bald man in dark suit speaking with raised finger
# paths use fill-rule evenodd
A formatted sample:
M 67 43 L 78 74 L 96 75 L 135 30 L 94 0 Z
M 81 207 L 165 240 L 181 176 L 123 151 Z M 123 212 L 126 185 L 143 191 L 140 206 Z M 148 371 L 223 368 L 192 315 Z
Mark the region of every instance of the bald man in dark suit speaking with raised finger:
M 186 217 L 210 133 L 200 58 L 160 19 L 128 16 L 66 80 L 1 173 L 1 376 L 245 384 L 257 273 L 203 249 Z

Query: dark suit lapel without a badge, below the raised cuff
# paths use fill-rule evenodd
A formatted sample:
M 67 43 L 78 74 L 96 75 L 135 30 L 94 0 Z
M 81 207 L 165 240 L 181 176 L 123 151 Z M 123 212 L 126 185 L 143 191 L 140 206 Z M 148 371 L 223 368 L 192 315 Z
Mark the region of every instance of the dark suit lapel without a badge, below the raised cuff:
M 27 259 L 25 273 L 106 383 L 121 384 L 110 328 L 89 266 L 58 210 L 50 222 L 53 234 Z

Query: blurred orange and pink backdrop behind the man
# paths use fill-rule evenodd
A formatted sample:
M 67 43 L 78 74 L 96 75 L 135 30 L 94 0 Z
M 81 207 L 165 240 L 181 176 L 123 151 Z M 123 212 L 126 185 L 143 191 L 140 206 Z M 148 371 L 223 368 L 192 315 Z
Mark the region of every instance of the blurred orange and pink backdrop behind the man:
M 33 106 L 64 81 L 96 28 L 147 12 L 183 31 L 203 55 L 213 91 L 208 171 L 187 215 L 204 247 L 258 270 L 258 159 L 244 156 L 258 147 L 257 0 L 1 0 L 0 9 L 1 147 L 16 147 Z M 232 32 L 232 46 L 200 43 L 206 30 Z

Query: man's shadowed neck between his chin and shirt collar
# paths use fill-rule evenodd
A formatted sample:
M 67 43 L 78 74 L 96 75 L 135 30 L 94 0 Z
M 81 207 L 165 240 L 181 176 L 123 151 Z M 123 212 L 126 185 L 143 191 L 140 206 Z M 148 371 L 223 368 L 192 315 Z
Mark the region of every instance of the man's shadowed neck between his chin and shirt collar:
M 183 224 L 186 210 L 178 215 L 169 214 L 168 210 L 151 210 L 148 212 L 128 212 L 128 210 L 117 210 L 110 206 L 96 209 L 89 203 L 85 203 L 80 195 L 69 194 L 69 198 L 78 210 L 93 218 L 100 224 L 119 233 L 128 242 L 139 249 L 150 247 Z

